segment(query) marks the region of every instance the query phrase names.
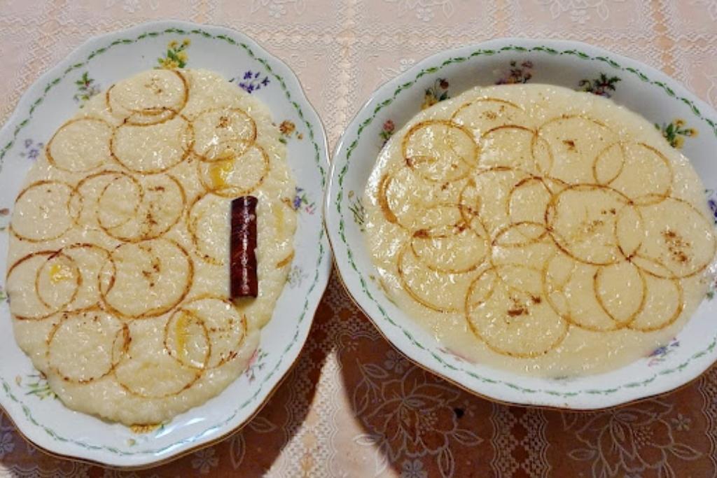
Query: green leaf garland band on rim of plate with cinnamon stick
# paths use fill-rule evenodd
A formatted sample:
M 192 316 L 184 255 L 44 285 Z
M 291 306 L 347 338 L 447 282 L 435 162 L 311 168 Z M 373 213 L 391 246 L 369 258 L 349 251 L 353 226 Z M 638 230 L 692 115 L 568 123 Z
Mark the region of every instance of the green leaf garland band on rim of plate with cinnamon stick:
M 67 69 L 64 72 L 62 72 L 62 75 L 60 77 L 57 77 L 54 80 L 48 82 L 47 85 L 44 87 L 42 96 L 37 98 L 37 100 L 34 100 L 34 102 L 32 102 L 30 104 L 29 114 L 28 114 L 27 118 L 20 121 L 16 125 L 16 127 L 13 130 L 11 140 L 9 140 L 9 142 L 6 143 L 6 145 L 4 145 L 4 147 L 0 150 L 0 172 L 2 171 L 2 167 L 4 166 L 5 156 L 8 153 L 8 151 L 15 144 L 15 141 L 17 140 L 17 135 L 19 135 L 20 131 L 22 131 L 27 125 L 29 125 L 30 121 L 33 118 L 34 111 L 44 101 L 45 97 L 47 97 L 47 94 L 50 92 L 50 90 L 52 90 L 52 88 L 54 86 L 56 86 L 60 82 L 62 82 L 62 80 L 64 80 L 65 77 L 67 77 L 67 75 L 70 74 L 70 72 L 84 67 L 85 65 L 87 65 L 88 62 L 90 62 L 90 60 L 92 58 L 97 57 L 98 55 L 107 52 L 112 47 L 115 47 L 120 44 L 134 44 L 143 39 L 156 38 L 156 37 L 159 37 L 164 34 L 181 34 L 181 35 L 190 35 L 191 34 L 191 35 L 199 35 L 205 39 L 222 40 L 224 42 L 227 42 L 228 44 L 231 44 L 232 46 L 242 48 L 244 50 L 244 52 L 246 52 L 252 59 L 259 62 L 262 65 L 262 67 L 265 68 L 266 72 L 269 75 L 271 75 L 272 77 L 274 77 L 275 80 L 277 80 L 277 82 L 279 83 L 279 85 L 281 85 L 282 91 L 284 92 L 286 99 L 288 100 L 290 105 L 292 105 L 294 107 L 300 120 L 303 121 L 304 125 L 306 126 L 306 128 L 308 130 L 308 138 L 310 139 L 311 143 L 313 144 L 313 148 L 314 148 L 314 161 L 315 161 L 315 166 L 318 168 L 318 171 L 320 174 L 321 187 L 326 188 L 326 168 L 324 168 L 324 166 L 321 164 L 320 148 L 314 138 L 313 125 L 311 123 L 309 123 L 309 121 L 305 118 L 303 110 L 301 110 L 301 106 L 298 104 L 298 102 L 296 102 L 295 100 L 292 99 L 291 93 L 289 92 L 288 87 L 286 86 L 286 83 L 285 83 L 283 77 L 281 77 L 276 72 L 274 72 L 274 70 L 272 70 L 272 67 L 269 64 L 269 62 L 267 61 L 267 59 L 264 59 L 262 57 L 257 57 L 257 55 L 253 52 L 253 50 L 251 49 L 251 47 L 249 45 L 245 44 L 244 42 L 237 42 L 237 40 L 233 39 L 232 37 L 229 37 L 229 35 L 227 35 L 227 34 L 212 34 L 212 33 L 206 32 L 206 30 L 203 30 L 203 29 L 182 29 L 182 28 L 178 28 L 178 27 L 170 27 L 170 28 L 166 28 L 166 29 L 163 29 L 163 30 L 160 30 L 157 32 L 144 32 L 142 34 L 139 34 L 137 37 L 135 37 L 133 39 L 115 39 L 113 42 L 110 42 L 110 44 L 106 45 L 105 47 L 100 47 L 98 49 L 92 50 L 92 52 L 90 52 L 90 54 L 87 55 L 87 58 L 84 61 L 72 64 L 70 67 L 67 67 Z M 15 403 L 18 403 L 22 407 L 22 411 L 23 411 L 25 418 L 30 423 L 32 423 L 34 426 L 38 426 L 39 428 L 44 430 L 44 432 L 48 436 L 52 437 L 52 439 L 54 439 L 56 441 L 60 441 L 63 443 L 71 443 L 71 444 L 80 446 L 84 449 L 94 450 L 94 451 L 110 451 L 111 453 L 117 454 L 120 456 L 134 456 L 134 455 L 162 454 L 162 453 L 168 451 L 169 449 L 176 449 L 178 446 L 183 446 L 186 444 L 194 443 L 195 441 L 199 441 L 204 436 L 206 436 L 208 434 L 212 434 L 213 432 L 215 432 L 219 429 L 222 429 L 230 421 L 232 421 L 235 416 L 237 416 L 239 411 L 243 410 L 244 408 L 249 406 L 250 403 L 255 401 L 255 399 L 257 398 L 257 396 L 259 396 L 260 392 L 262 391 L 262 389 L 264 388 L 266 383 L 270 380 L 270 378 L 272 378 L 272 376 L 275 375 L 275 373 L 277 373 L 277 370 L 279 369 L 280 365 L 282 364 L 282 361 L 283 361 L 286 353 L 288 353 L 288 351 L 291 348 L 293 348 L 295 343 L 297 343 L 298 338 L 299 338 L 300 325 L 305 320 L 306 312 L 308 312 L 308 308 L 309 308 L 308 297 L 311 295 L 313 290 L 316 288 L 316 286 L 318 285 L 319 279 L 320 279 L 320 274 L 319 274 L 320 265 L 323 262 L 323 259 L 326 255 L 326 248 L 324 247 L 324 244 L 323 244 L 323 239 L 325 237 L 325 234 L 326 234 L 326 231 L 322 226 L 320 228 L 319 236 L 318 236 L 319 255 L 318 255 L 318 259 L 316 261 L 316 265 L 315 265 L 316 271 L 315 271 L 315 274 L 313 277 L 313 282 L 306 292 L 306 299 L 304 301 L 301 315 L 299 316 L 298 321 L 296 322 L 296 328 L 294 331 L 294 335 L 291 338 L 290 343 L 288 343 L 288 345 L 284 348 L 284 350 L 282 350 L 282 354 L 280 355 L 279 359 L 277 360 L 275 367 L 272 368 L 271 371 L 267 372 L 266 376 L 264 377 L 264 380 L 262 380 L 261 383 L 258 383 L 258 387 L 257 387 L 257 390 L 255 391 L 255 393 L 252 396 L 250 396 L 250 398 L 247 398 L 247 400 L 240 403 L 239 406 L 234 410 L 234 412 L 227 417 L 227 419 L 224 419 L 224 421 L 220 422 L 219 424 L 214 424 L 213 426 L 210 426 L 209 428 L 205 429 L 204 431 L 199 432 L 198 434 L 195 434 L 194 436 L 190 436 L 186 439 L 182 439 L 182 440 L 176 441 L 172 444 L 162 446 L 161 448 L 158 448 L 158 449 L 147 449 L 147 450 L 138 450 L 138 451 L 126 451 L 126 450 L 118 449 L 115 446 L 88 444 L 88 443 L 85 443 L 84 441 L 70 439 L 65 436 L 62 436 L 62 435 L 58 434 L 56 431 L 54 431 L 53 429 L 49 428 L 48 426 L 40 424 L 34 418 L 34 416 L 32 416 L 32 411 L 30 410 L 30 408 L 25 403 L 23 403 L 22 400 L 17 398 L 14 395 L 14 393 L 12 393 L 9 383 L 4 378 L 0 377 L 0 382 L 2 383 L 2 388 L 5 391 L 5 394 L 7 397 L 9 397 L 12 401 L 14 401 Z

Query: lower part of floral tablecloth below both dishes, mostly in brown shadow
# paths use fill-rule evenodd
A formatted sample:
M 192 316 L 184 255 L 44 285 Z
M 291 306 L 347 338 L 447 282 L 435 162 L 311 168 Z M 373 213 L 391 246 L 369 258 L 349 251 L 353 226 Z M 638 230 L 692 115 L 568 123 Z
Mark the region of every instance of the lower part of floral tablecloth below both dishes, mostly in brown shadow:
M 332 277 L 298 363 L 242 431 L 160 467 L 54 459 L 0 419 L 19 476 L 713 477 L 717 368 L 667 396 L 595 413 L 503 406 L 410 363 Z

